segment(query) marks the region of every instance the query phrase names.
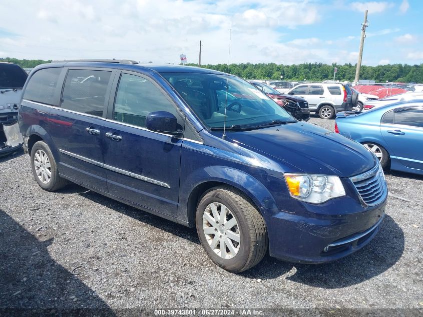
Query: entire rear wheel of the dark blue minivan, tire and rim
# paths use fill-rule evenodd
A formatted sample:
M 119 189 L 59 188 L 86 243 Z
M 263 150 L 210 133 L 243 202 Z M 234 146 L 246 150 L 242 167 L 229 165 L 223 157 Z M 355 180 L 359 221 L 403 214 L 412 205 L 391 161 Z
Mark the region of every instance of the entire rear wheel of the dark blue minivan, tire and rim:
M 31 149 L 31 167 L 41 188 L 55 191 L 65 187 L 68 181 L 59 175 L 52 151 L 44 141 L 38 141 Z

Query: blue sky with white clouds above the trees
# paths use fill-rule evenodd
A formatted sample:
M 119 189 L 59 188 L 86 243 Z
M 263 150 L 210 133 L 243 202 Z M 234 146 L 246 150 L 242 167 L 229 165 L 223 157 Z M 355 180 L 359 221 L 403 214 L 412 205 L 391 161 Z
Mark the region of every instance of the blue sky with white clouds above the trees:
M 0 0 L 0 57 L 138 62 L 423 63 L 423 1 Z M 230 43 L 230 46 L 229 46 Z M 230 49 L 229 49 L 230 48 Z

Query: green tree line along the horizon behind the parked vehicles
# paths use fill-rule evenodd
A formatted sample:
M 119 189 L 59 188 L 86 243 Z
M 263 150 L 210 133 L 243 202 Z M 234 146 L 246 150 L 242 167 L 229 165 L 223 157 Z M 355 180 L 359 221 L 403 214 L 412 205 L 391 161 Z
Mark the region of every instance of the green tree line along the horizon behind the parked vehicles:
M 15 58 L 0 58 L 0 62 L 12 62 L 22 68 L 33 68 L 37 65 L 50 63 L 43 60 L 19 60 Z M 187 64 L 197 66 L 196 64 Z M 203 68 L 228 72 L 227 64 L 202 65 Z M 298 65 L 283 65 L 275 63 L 241 63 L 230 64 L 229 73 L 245 79 L 283 80 L 292 81 L 323 81 L 332 80 L 334 68 L 337 68 L 335 80 L 352 82 L 355 78 L 355 67 L 352 64 L 328 65 L 322 63 L 303 63 Z M 377 83 L 400 82 L 400 83 L 423 83 L 423 64 L 388 64 L 378 66 L 361 66 L 360 79 L 374 80 Z

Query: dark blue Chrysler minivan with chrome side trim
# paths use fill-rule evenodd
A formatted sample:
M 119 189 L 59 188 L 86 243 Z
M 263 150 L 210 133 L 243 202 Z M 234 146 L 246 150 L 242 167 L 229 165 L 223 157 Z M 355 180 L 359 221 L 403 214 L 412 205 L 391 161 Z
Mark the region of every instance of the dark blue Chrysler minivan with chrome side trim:
M 294 262 L 338 259 L 366 245 L 383 219 L 387 187 L 374 154 L 225 73 L 45 64 L 26 82 L 19 124 L 42 188 L 71 181 L 196 226 L 228 271 L 267 250 Z

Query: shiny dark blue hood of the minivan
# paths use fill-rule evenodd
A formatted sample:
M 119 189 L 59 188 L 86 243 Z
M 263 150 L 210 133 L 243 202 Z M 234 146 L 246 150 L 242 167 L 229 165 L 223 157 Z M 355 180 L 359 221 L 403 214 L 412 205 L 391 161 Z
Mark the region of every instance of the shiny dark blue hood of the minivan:
M 228 131 L 227 139 L 289 163 L 304 173 L 350 177 L 376 164 L 375 156 L 359 143 L 307 122 Z

